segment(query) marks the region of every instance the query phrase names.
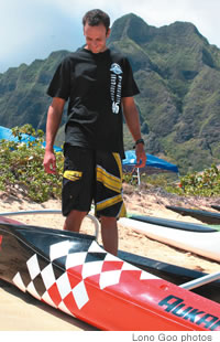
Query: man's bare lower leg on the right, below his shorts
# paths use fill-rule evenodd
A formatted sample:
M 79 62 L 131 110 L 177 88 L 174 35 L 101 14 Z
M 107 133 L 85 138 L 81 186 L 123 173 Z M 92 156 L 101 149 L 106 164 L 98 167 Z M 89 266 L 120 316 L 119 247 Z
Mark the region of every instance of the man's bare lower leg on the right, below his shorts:
M 118 254 L 118 225 L 116 217 L 101 216 L 101 237 L 103 248 L 113 254 Z

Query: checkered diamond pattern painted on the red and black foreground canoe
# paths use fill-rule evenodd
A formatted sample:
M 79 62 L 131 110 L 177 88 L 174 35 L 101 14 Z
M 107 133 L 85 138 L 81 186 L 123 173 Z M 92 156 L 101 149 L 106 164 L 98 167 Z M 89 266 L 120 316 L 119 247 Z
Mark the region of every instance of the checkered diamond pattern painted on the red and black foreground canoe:
M 87 252 L 72 253 L 70 247 L 72 243 L 68 239 L 51 245 L 50 260 L 43 269 L 40 265 L 41 256 L 34 254 L 26 261 L 30 275 L 28 286 L 24 285 L 20 272 L 13 277 L 13 282 L 22 291 L 28 291 L 50 306 L 75 316 L 74 312 L 81 310 L 90 300 L 86 280 L 94 276 L 96 276 L 96 287 L 100 291 L 120 284 L 123 271 L 139 271 L 140 280 L 158 279 L 106 253 L 95 241 Z M 56 264 L 58 258 L 64 258 L 65 265 L 64 269 L 59 269 L 61 274 L 57 277 L 55 268 L 58 268 Z

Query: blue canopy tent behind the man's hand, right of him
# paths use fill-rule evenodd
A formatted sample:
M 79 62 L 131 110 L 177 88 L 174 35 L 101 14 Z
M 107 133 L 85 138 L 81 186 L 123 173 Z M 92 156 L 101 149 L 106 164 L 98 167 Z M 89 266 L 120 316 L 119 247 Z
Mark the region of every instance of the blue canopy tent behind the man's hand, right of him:
M 122 160 L 123 171 L 130 172 L 136 164 L 136 156 L 134 150 L 125 151 L 125 159 Z M 178 168 L 161 158 L 146 153 L 146 167 L 140 169 L 141 172 L 158 173 L 158 172 L 176 172 Z

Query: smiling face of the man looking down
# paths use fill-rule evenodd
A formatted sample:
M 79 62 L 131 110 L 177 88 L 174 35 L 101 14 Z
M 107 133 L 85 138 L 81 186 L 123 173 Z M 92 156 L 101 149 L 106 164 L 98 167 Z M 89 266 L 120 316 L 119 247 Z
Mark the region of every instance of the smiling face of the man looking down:
M 86 49 L 92 53 L 99 53 L 107 50 L 107 39 L 110 35 L 110 29 L 107 29 L 103 24 L 98 26 L 90 26 L 88 23 L 84 26 L 84 35 L 86 38 Z

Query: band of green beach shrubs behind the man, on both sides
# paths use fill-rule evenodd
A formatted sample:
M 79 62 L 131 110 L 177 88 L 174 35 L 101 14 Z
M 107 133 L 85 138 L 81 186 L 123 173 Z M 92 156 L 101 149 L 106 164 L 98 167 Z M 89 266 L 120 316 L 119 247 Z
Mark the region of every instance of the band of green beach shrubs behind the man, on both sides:
M 63 179 L 63 153 L 56 152 L 56 174 L 44 172 L 44 132 L 35 130 L 31 125 L 12 128 L 18 141 L 0 140 L 0 190 L 4 192 L 22 192 L 35 202 L 45 202 L 52 197 L 61 199 Z M 22 142 L 23 133 L 28 142 Z M 34 139 L 32 138 L 34 137 Z M 132 172 L 123 174 L 123 182 L 138 186 Z M 167 192 L 179 195 L 212 196 L 220 194 L 220 170 L 212 164 L 202 173 L 190 173 L 179 179 L 178 184 L 170 175 L 142 174 L 142 185 L 160 186 Z

